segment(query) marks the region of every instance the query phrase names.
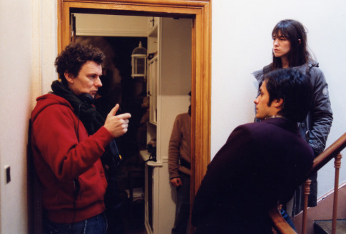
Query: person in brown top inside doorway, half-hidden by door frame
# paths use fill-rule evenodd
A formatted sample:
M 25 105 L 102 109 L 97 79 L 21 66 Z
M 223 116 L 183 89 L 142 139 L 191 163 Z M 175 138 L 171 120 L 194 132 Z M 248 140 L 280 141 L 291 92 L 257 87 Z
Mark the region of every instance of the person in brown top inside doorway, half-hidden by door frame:
M 188 93 L 191 96 L 191 92 Z M 190 215 L 191 105 L 176 116 L 168 148 L 168 171 L 176 188 L 172 234 L 185 234 Z

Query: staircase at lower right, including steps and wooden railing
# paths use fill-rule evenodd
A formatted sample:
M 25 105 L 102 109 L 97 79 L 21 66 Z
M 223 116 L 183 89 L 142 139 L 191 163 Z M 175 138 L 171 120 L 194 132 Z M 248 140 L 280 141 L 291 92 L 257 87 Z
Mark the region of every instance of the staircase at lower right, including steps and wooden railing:
M 319 198 L 317 206 L 307 208 L 307 196 L 310 193 L 311 180 L 306 180 L 304 188 L 304 209 L 295 216 L 293 223 L 296 230 L 302 230 L 303 234 L 318 233 L 346 233 L 346 210 L 337 209 L 346 207 L 346 181 L 339 184 L 339 173 L 341 167 L 341 151 L 346 148 L 346 133 L 330 145 L 325 151 L 314 159 L 314 163 L 308 175 L 317 172 L 325 166 L 332 158 L 335 158 L 335 183 L 334 188 L 326 195 Z M 308 176 L 307 176 L 308 178 Z M 280 233 L 295 233 L 288 223 L 280 215 L 278 205 L 275 204 L 268 210 L 273 220 L 275 229 Z M 337 220 L 339 218 L 339 220 Z M 325 220 L 325 221 L 314 221 Z M 330 221 L 329 221 L 330 220 Z M 334 222 L 332 222 L 333 220 Z

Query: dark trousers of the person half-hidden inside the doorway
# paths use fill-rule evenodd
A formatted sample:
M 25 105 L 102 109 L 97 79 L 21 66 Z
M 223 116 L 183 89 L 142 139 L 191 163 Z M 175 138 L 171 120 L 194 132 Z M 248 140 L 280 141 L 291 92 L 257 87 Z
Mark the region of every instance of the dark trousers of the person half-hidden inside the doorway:
M 190 215 L 190 175 L 180 173 L 183 185 L 177 188 L 177 204 L 175 208 L 175 221 L 172 234 L 185 234 Z

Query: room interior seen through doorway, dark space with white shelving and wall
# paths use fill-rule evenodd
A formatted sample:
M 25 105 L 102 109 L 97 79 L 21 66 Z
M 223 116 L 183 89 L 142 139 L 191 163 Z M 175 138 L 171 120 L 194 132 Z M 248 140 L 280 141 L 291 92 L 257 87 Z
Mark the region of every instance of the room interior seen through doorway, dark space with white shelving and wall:
M 131 113 L 128 133 L 116 139 L 123 158 L 118 166 L 121 208 L 116 220 L 121 220 L 118 224 L 124 224 L 126 233 L 153 233 L 154 216 L 163 215 L 159 210 L 164 208 L 166 220 L 161 223 L 168 225 L 160 225 L 165 233 L 170 232 L 175 189 L 168 178 L 168 141 L 175 116 L 188 111 L 192 20 L 72 16 L 72 40 L 96 46 L 106 55 L 96 109 L 106 117 L 119 103 L 119 113 Z M 146 61 L 144 71 L 136 73 L 138 50 Z M 162 203 L 157 203 L 158 194 Z M 110 225 L 108 233 L 116 230 Z

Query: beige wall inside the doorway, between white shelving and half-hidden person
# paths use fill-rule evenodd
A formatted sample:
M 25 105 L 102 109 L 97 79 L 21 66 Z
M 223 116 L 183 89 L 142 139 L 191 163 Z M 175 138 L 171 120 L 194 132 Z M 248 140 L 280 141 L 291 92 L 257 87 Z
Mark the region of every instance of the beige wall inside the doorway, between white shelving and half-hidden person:
M 175 117 L 188 112 L 188 92 L 191 90 L 191 31 L 190 19 L 161 19 L 160 46 L 161 71 L 158 85 L 158 160 L 159 176 L 158 229 L 154 233 L 171 233 L 175 217 L 175 188 L 169 183 L 168 146 Z M 160 34 L 160 33 L 159 33 Z

